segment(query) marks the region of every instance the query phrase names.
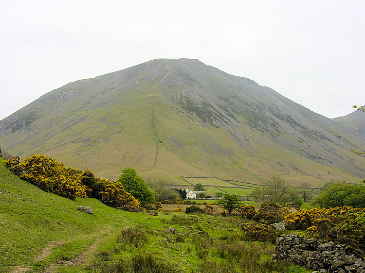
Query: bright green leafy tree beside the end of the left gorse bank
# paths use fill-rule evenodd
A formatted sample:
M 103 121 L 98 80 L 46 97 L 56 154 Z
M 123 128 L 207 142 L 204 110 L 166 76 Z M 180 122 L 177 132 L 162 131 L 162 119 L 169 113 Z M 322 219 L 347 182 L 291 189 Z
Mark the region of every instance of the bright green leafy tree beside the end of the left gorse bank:
M 138 199 L 142 206 L 155 201 L 155 192 L 148 188 L 145 180 L 133 168 L 124 168 L 118 182 L 122 183 L 124 189 Z

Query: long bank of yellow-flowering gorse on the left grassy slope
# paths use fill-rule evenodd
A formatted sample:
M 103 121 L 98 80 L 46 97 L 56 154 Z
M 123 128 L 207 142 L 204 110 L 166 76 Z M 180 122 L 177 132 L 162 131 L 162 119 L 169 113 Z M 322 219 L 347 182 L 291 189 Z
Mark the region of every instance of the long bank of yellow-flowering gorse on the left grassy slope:
M 117 208 L 139 207 L 140 203 L 124 190 L 121 183 L 97 178 L 90 170 L 66 168 L 44 154 L 33 154 L 20 162 L 18 156 L 4 160 L 4 166 L 21 179 L 71 200 L 76 197 L 97 198 L 106 205 Z

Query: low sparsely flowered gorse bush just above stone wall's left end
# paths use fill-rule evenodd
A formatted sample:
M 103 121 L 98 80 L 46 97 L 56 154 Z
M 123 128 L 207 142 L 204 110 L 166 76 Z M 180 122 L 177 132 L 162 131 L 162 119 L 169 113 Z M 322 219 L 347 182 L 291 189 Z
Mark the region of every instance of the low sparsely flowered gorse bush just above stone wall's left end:
M 237 236 L 246 241 L 274 242 L 280 235 L 276 228 L 264 223 L 244 222 L 240 224 L 240 228 L 242 231 L 238 232 Z

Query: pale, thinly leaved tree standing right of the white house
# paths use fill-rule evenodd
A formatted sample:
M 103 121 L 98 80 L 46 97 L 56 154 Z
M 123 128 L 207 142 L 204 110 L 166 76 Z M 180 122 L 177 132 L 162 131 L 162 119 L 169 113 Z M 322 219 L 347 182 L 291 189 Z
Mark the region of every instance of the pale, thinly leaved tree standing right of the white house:
M 261 188 L 256 188 L 252 192 L 252 195 L 256 200 L 283 204 L 288 198 L 288 190 L 289 182 L 284 179 L 283 175 L 274 172 L 262 182 Z

